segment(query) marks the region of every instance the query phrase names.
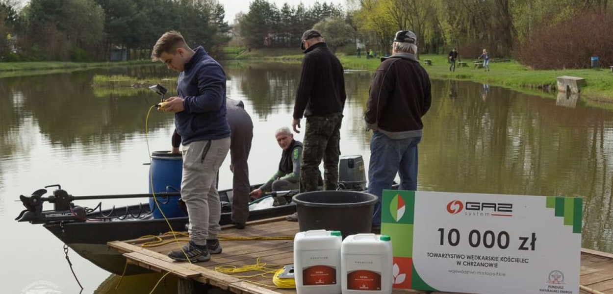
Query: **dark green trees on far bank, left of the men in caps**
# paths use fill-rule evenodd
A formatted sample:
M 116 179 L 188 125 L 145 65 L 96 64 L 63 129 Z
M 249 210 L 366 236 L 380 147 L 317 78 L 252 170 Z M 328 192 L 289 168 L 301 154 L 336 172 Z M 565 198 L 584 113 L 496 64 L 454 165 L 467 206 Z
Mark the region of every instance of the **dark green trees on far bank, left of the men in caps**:
M 15 7 L 16 0 L 0 1 L 0 36 L 17 36 L 0 40 L 4 61 L 106 60 L 115 48 L 147 59 L 170 29 L 212 51 L 229 40 L 216 0 L 30 0 Z

